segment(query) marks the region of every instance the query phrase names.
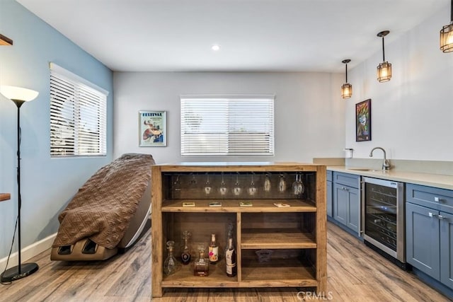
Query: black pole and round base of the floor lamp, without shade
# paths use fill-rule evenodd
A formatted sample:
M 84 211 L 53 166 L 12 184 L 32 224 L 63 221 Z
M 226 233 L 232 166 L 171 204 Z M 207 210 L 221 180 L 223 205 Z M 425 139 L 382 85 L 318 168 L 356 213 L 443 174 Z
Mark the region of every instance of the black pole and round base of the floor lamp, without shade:
M 11 282 L 17 279 L 27 277 L 30 274 L 38 271 L 36 263 L 21 263 L 21 106 L 25 100 L 12 100 L 17 106 L 17 191 L 18 191 L 18 266 L 6 269 L 0 275 L 2 282 Z

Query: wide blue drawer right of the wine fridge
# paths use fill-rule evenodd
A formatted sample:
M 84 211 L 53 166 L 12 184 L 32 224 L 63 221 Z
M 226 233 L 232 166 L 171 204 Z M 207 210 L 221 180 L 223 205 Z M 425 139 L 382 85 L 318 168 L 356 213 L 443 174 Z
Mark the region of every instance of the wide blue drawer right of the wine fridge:
M 453 213 L 453 191 L 438 187 L 406 184 L 406 202 Z

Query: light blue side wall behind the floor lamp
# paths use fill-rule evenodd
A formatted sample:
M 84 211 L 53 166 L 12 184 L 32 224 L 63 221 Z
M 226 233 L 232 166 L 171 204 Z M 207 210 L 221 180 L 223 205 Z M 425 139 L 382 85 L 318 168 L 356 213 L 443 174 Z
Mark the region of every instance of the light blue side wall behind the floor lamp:
M 14 0 L 0 0 L 0 33 L 13 40 L 13 46 L 0 46 L 0 85 L 40 93 L 21 108 L 24 248 L 55 233 L 57 216 L 71 196 L 112 161 L 113 72 Z M 50 158 L 49 62 L 110 92 L 107 156 Z M 0 259 L 8 255 L 17 215 L 16 116 L 16 105 L 0 96 L 0 192 L 11 193 L 11 200 L 0 202 Z

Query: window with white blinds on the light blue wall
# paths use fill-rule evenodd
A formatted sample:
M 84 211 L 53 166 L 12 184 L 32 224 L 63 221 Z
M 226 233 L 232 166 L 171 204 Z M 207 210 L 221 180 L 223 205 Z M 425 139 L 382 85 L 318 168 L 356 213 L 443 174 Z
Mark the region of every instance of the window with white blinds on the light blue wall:
M 50 156 L 105 156 L 108 92 L 50 64 Z

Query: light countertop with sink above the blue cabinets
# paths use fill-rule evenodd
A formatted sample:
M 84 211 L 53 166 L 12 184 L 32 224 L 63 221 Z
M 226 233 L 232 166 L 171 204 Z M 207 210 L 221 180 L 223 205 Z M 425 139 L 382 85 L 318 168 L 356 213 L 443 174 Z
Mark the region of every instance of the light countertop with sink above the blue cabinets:
M 399 170 L 359 170 L 360 167 L 346 167 L 345 165 L 328 165 L 327 170 L 367 176 L 370 178 L 381 178 L 398 182 L 408 182 L 416 185 L 428 185 L 442 189 L 453 190 L 453 175 L 440 175 L 431 173 L 418 173 Z M 366 169 L 366 168 L 363 168 Z

